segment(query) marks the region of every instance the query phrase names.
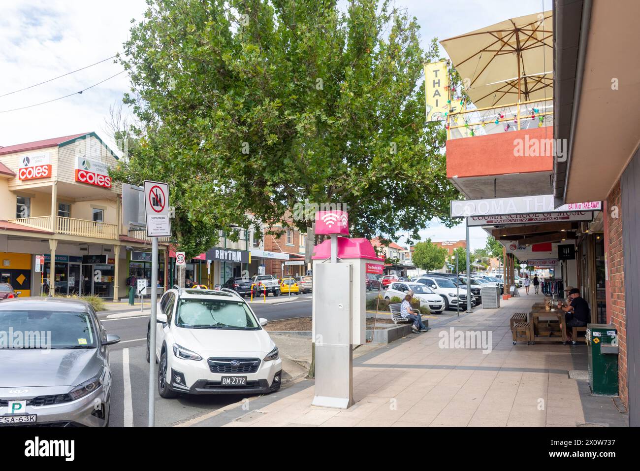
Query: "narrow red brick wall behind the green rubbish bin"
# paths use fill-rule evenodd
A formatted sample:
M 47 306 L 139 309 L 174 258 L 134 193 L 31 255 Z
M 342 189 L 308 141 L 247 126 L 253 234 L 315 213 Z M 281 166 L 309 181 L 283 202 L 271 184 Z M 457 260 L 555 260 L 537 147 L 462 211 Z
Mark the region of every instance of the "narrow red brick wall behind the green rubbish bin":
M 615 213 L 618 208 L 617 214 Z M 620 181 L 607 197 L 607 222 L 609 224 L 609 251 L 607 252 L 607 266 L 609 270 L 609 286 L 611 292 L 611 324 L 618 329 L 618 386 L 620 399 L 628 408 L 627 388 L 627 322 L 625 320 L 625 258 L 622 244 L 623 208 L 620 199 Z M 617 215 L 618 217 L 612 217 Z

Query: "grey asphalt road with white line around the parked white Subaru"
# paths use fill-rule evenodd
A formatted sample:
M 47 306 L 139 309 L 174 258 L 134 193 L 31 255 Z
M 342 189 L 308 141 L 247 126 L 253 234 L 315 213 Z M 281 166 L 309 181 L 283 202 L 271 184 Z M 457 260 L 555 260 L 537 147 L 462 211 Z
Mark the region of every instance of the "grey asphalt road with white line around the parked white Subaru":
M 280 304 L 251 303 L 257 317 L 267 320 L 311 315 L 311 297 L 300 296 L 295 301 Z M 111 392 L 111 418 L 113 427 L 145 427 L 148 422 L 148 363 L 146 356 L 148 309 L 145 315 L 138 310 L 123 310 L 131 317 L 109 318 L 122 311 L 102 311 L 100 322 L 108 333 L 120 336 L 109 351 L 113 389 Z M 283 375 L 286 379 L 286 374 Z M 162 399 L 156 394 L 156 426 L 172 426 L 189 418 L 198 417 L 237 401 L 242 395 L 180 396 Z

